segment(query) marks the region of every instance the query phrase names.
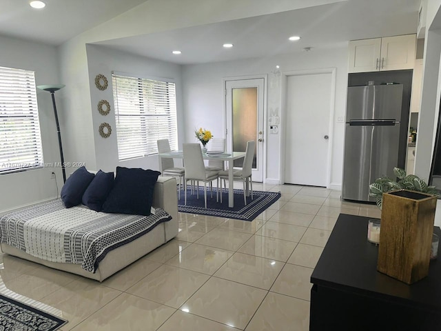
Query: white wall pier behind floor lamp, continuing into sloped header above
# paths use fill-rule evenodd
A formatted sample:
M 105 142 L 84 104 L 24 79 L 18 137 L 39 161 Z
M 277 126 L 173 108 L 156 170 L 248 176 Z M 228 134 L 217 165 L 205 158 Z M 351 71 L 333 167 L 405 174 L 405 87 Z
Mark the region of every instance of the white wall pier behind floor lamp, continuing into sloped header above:
M 68 128 L 61 126 L 66 137 L 65 161 L 83 161 L 88 168 L 99 168 L 95 157 L 99 143 L 94 141 L 96 125 L 92 118 L 95 101 L 91 99 L 89 77 L 89 72 L 96 72 L 88 69 L 86 44 L 339 1 L 342 0 L 150 0 L 63 43 L 59 48 L 60 72 L 66 88 L 61 95 L 65 121 L 69 123 Z

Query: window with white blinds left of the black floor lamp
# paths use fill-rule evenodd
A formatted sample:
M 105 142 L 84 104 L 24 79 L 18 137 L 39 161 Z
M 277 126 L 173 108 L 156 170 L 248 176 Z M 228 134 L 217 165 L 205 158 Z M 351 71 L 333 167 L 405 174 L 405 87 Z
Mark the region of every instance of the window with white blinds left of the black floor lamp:
M 0 173 L 42 165 L 34 72 L 0 67 Z

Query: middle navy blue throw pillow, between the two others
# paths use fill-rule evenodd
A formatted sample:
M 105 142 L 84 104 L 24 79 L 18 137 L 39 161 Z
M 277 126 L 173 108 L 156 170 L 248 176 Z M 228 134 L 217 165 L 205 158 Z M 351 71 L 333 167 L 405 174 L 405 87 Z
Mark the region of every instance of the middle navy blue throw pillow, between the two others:
M 83 199 L 81 199 L 83 205 L 87 205 L 96 212 L 101 212 L 103 203 L 113 188 L 113 181 L 113 172 L 103 172 L 101 170 L 96 172 L 94 179 L 83 194 Z

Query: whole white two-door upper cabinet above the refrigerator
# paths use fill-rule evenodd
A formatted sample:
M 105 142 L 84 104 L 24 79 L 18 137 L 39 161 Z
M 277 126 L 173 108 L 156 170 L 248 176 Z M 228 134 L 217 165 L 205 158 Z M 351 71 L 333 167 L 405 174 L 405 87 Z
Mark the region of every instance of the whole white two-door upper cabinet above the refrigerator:
M 349 41 L 349 72 L 412 69 L 416 34 Z

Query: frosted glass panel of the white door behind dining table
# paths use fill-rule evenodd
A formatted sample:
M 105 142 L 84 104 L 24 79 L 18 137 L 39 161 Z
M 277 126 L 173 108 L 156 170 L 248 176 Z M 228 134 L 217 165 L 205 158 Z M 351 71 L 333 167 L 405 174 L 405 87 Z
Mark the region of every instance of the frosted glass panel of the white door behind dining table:
M 245 152 L 247 141 L 257 137 L 257 88 L 233 89 L 233 150 Z M 242 168 L 243 159 L 234 160 L 234 166 Z M 254 153 L 253 168 L 256 168 Z

